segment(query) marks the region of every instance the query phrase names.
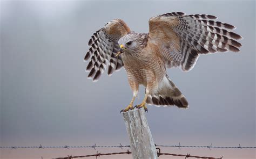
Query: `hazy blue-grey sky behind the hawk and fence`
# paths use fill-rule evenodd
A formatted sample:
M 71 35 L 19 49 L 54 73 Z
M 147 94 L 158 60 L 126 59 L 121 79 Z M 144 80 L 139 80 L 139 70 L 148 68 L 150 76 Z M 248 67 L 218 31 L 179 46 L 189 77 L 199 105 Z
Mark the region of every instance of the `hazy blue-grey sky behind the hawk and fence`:
M 174 11 L 219 17 L 237 27 L 243 46 L 239 53 L 201 55 L 188 73 L 168 70 L 190 109 L 149 106 L 147 120 L 154 141 L 255 146 L 254 1 L 2 1 L 0 146 L 129 144 L 119 114 L 132 97 L 125 70 L 111 77 L 105 73 L 96 83 L 87 79 L 83 61 L 87 41 L 114 18 L 122 18 L 135 32 L 146 33 L 150 17 Z M 141 87 L 135 104 L 142 101 L 143 93 Z M 225 158 L 255 158 L 254 150 L 164 149 Z M 96 153 L 94 149 L 0 151 L 0 158 Z

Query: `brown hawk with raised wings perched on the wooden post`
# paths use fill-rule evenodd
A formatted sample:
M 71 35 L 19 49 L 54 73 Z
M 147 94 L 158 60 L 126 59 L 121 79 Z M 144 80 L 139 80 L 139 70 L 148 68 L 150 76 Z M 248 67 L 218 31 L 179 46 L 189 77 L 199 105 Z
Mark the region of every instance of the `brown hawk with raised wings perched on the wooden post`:
M 146 104 L 187 109 L 188 102 L 166 74 L 167 68 L 180 67 L 190 71 L 200 54 L 239 52 L 242 37 L 231 30 L 233 25 L 214 21 L 212 15 L 166 13 L 149 19 L 149 33 L 130 30 L 122 19 L 114 19 L 95 32 L 89 40 L 88 78 L 97 81 L 104 70 L 112 75 L 125 68 L 133 97 L 121 112 L 132 110 L 139 85 L 145 86 Z

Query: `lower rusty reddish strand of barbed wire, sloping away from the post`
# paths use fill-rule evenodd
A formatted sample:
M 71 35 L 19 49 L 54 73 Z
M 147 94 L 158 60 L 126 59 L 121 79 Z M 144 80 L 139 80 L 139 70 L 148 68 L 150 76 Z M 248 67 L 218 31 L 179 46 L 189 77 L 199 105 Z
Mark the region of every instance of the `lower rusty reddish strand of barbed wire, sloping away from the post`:
M 157 157 L 161 156 L 161 155 L 171 155 L 171 156 L 180 156 L 180 157 L 185 157 L 185 158 L 189 158 L 189 157 L 193 157 L 193 158 L 204 158 L 204 159 L 222 159 L 223 157 L 219 157 L 219 158 L 215 158 L 215 157 L 205 157 L 205 156 L 192 156 L 190 154 L 186 154 L 186 155 L 181 155 L 181 154 L 170 154 L 170 153 L 161 153 L 160 148 L 157 148 Z M 83 157 L 92 157 L 92 156 L 104 156 L 104 155 L 122 155 L 122 154 L 131 154 L 130 150 L 126 150 L 126 152 L 120 152 L 120 153 L 106 153 L 106 154 L 102 154 L 102 153 L 97 153 L 93 154 L 93 155 L 84 155 L 84 156 L 68 156 L 68 157 L 58 157 L 58 158 L 54 158 L 54 159 L 72 159 L 72 158 L 83 158 Z

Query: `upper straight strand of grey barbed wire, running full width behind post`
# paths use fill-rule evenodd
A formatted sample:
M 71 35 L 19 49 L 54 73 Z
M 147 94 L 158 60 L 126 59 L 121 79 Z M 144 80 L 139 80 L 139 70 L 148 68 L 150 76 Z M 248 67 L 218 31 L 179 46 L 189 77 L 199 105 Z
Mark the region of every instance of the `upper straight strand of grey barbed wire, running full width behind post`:
M 246 148 L 246 149 L 253 149 L 253 148 L 256 148 L 256 146 L 241 146 L 240 143 L 239 143 L 239 146 L 212 146 L 212 143 L 209 145 L 209 146 L 181 146 L 180 142 L 179 142 L 179 145 L 158 145 L 158 144 L 155 144 L 156 147 L 177 147 L 177 148 L 209 148 L 211 150 L 211 148 Z M 65 146 L 42 146 L 42 144 L 39 144 L 39 146 L 0 146 L 0 148 L 12 148 L 12 149 L 18 149 L 18 148 L 38 148 L 38 149 L 41 149 L 41 148 L 93 148 L 96 150 L 96 148 L 125 148 L 125 147 L 128 147 L 130 148 L 130 145 L 126 145 L 126 146 L 123 146 L 121 143 L 119 143 L 118 146 L 96 146 L 96 143 L 93 144 L 92 146 L 68 146 L 68 145 L 65 145 Z

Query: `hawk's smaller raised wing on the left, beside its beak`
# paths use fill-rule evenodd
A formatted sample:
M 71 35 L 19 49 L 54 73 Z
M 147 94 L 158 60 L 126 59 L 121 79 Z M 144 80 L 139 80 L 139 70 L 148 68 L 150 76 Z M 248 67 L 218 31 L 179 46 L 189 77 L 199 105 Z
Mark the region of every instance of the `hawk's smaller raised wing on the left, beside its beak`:
M 130 28 L 122 19 L 114 19 L 92 35 L 88 43 L 90 48 L 84 57 L 85 61 L 90 59 L 86 67 L 90 72 L 88 78 L 96 82 L 106 67 L 108 75 L 123 67 L 121 56 L 115 54 L 119 52 L 118 40 L 129 32 Z

